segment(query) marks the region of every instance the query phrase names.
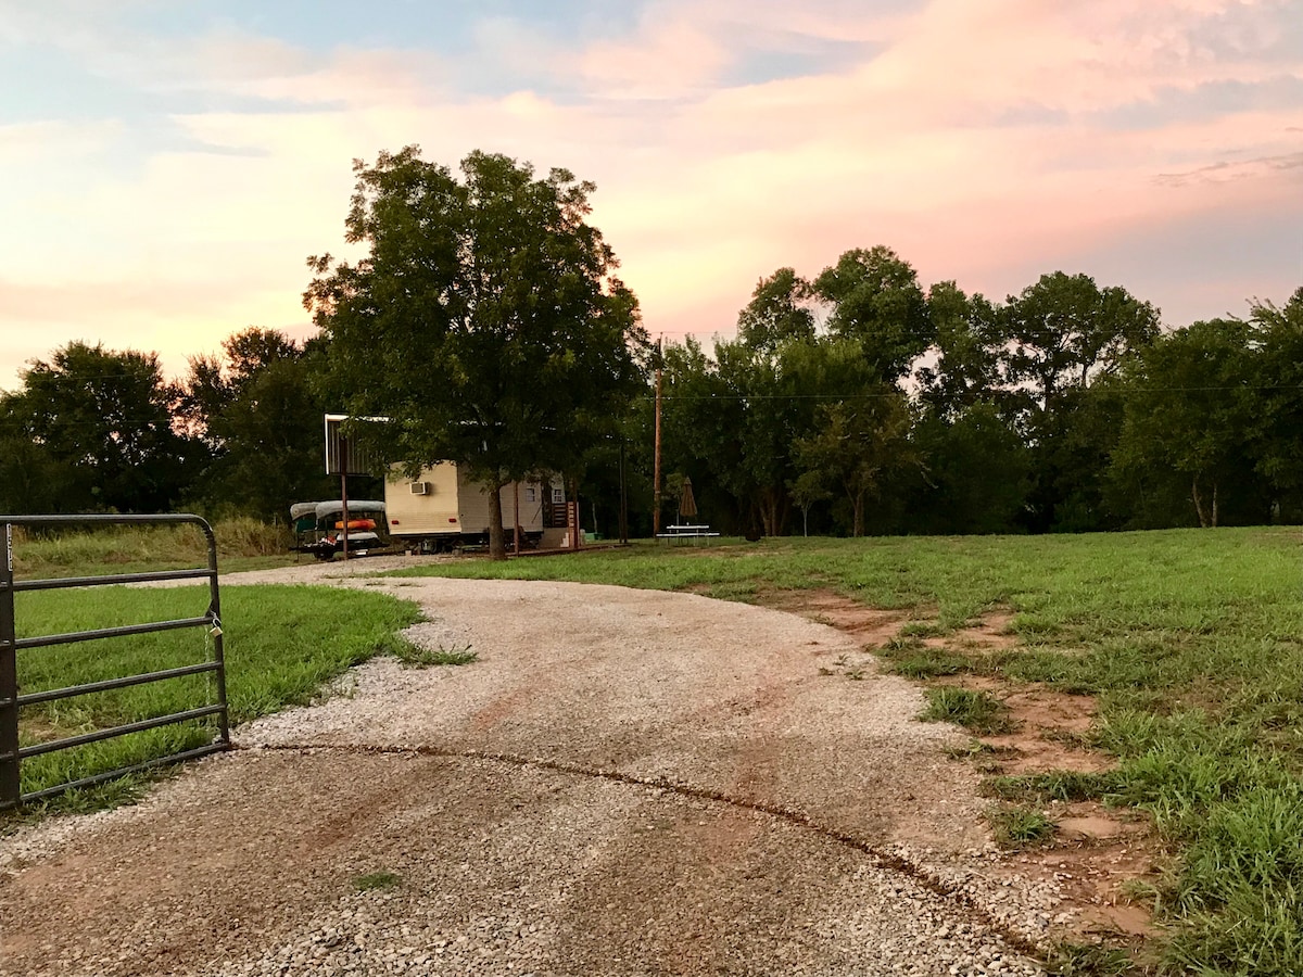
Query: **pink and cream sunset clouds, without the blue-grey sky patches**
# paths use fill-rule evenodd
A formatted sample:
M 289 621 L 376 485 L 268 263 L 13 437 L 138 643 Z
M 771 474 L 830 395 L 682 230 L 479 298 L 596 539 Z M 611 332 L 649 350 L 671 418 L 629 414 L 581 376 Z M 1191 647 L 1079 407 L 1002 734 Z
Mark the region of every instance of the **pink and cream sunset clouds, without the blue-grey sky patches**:
M 138 175 L 77 171 L 81 182 L 31 199 L 0 188 L 0 205 L 30 229 L 7 255 L 27 290 L 5 289 L 0 317 L 14 331 L 50 330 L 50 345 L 86 323 L 111 344 L 138 335 L 182 363 L 249 324 L 302 326 L 302 259 L 341 250 L 349 160 L 409 142 L 450 165 L 481 147 L 595 180 L 594 220 L 649 330 L 670 335 L 728 332 L 758 276 L 783 264 L 814 274 L 847 248 L 887 244 L 925 280 L 975 288 L 1042 257 L 1298 198 L 1298 111 L 1108 124 L 1167 91 L 1303 77 L 1300 65 L 1255 57 L 1272 40 L 1267 17 L 1240 17 L 1242 34 L 1217 51 L 1201 40 L 1224 14 L 1282 4 L 933 0 L 891 17 L 865 7 L 675 0 L 593 42 L 482 25 L 465 59 L 485 70 L 494 57 L 529 61 L 566 99 L 542 85 L 459 94 L 459 65 L 416 51 L 309 56 L 237 33 L 150 47 L 116 70 L 317 108 L 173 119 L 199 143 L 250 156 L 173 150 Z M 835 72 L 721 86 L 747 44 L 810 39 L 865 53 Z M 93 155 L 112 138 L 0 129 L 0 159 L 35 173 L 48 164 L 31 160 L 60 159 L 78 139 Z M 106 285 L 65 284 L 69 268 L 91 266 Z

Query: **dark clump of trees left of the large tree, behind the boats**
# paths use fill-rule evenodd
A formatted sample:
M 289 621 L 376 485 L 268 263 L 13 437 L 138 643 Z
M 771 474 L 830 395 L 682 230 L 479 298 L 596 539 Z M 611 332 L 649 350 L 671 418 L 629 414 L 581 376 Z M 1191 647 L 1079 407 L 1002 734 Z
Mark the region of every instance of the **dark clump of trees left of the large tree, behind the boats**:
M 323 356 L 249 328 L 169 380 L 155 353 L 69 343 L 0 397 L 0 509 L 284 522 L 291 502 L 339 492 L 323 474 Z

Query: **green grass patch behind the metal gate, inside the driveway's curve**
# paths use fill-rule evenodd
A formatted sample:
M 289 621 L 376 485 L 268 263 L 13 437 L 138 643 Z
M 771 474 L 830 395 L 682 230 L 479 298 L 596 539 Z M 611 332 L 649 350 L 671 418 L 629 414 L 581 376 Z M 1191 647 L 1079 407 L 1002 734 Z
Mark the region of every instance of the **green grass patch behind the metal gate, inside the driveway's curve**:
M 16 595 L 20 636 L 201 616 L 207 588 L 169 590 L 94 588 Z M 375 654 L 396 653 L 396 632 L 420 619 L 416 604 L 384 594 L 305 586 L 233 586 L 222 590 L 222 621 L 231 722 L 241 723 L 291 705 L 304 705 L 348 667 Z M 77 645 L 23 649 L 23 692 L 81 685 L 121 675 L 207 660 L 212 638 L 202 628 L 104 638 Z M 91 693 L 22 710 L 25 745 L 167 715 L 211 700 L 207 675 Z M 212 739 L 203 722 L 173 724 L 104 743 L 33 757 L 22 763 L 22 789 L 35 792 Z M 85 810 L 129 799 L 145 778 L 76 791 L 36 812 Z

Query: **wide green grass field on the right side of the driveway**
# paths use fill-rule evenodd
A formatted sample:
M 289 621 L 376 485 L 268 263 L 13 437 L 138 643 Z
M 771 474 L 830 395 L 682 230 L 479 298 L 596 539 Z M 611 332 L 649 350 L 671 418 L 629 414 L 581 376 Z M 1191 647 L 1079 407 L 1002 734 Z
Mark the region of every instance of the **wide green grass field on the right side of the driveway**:
M 1095 796 L 1148 812 L 1178 866 L 1154 894 L 1160 969 L 1303 973 L 1303 533 L 771 539 L 421 571 L 692 589 L 735 601 L 829 589 L 902 608 L 906 634 L 1014 612 L 1015 649 L 887 649 L 900 671 L 980 671 L 1098 700 L 1100 775 L 1053 771 L 1005 796 Z

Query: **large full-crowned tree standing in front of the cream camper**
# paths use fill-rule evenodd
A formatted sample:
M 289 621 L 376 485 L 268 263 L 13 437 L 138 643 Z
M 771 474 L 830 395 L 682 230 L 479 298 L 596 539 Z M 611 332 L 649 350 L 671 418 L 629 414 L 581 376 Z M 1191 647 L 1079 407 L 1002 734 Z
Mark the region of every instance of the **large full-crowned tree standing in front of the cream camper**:
M 409 472 L 456 461 L 490 498 L 541 469 L 575 470 L 636 391 L 646 344 L 615 254 L 586 221 L 593 184 L 485 152 L 459 180 L 416 146 L 353 171 L 345 238 L 366 254 L 309 258 L 304 296 L 340 408 L 388 417 L 392 460 Z

